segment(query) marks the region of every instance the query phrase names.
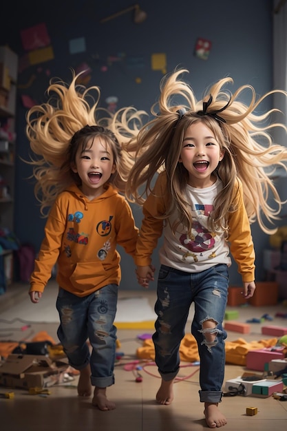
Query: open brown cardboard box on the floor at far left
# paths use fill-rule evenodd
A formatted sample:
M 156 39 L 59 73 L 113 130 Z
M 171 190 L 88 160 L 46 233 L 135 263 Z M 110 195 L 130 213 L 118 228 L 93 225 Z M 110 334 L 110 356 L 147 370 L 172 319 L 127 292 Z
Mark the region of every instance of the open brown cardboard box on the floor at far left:
M 9 355 L 0 365 L 0 386 L 11 388 L 47 388 L 67 369 L 67 359 L 52 361 L 45 355 Z

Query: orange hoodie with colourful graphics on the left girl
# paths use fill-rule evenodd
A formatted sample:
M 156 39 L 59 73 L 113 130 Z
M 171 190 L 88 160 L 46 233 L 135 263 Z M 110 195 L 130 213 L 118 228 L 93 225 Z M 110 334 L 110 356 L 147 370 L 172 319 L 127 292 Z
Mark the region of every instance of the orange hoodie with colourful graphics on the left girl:
M 88 200 L 72 185 L 56 198 L 50 210 L 30 292 L 44 291 L 54 264 L 59 286 L 79 297 L 107 284 L 119 284 L 116 246 L 123 246 L 134 257 L 137 239 L 131 208 L 111 185 L 94 200 Z

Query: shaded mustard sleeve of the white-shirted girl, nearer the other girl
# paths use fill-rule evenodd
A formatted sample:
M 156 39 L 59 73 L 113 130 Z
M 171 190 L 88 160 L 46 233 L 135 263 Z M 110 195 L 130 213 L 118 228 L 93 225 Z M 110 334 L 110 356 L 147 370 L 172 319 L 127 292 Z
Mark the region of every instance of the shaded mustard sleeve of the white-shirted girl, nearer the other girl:
M 164 176 L 160 174 L 156 180 L 153 191 L 149 194 L 142 208 L 143 219 L 136 244 L 136 265 L 147 266 L 151 264 L 151 254 L 162 235 L 163 220 L 158 216 L 165 213 Z

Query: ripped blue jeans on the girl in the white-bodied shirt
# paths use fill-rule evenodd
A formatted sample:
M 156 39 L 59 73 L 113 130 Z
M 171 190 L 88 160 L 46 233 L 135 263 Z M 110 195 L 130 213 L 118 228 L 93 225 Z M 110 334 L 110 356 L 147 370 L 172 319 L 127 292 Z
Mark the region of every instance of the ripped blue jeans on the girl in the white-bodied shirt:
M 184 337 L 189 308 L 194 302 L 191 333 L 198 343 L 200 355 L 200 401 L 219 403 L 225 366 L 226 332 L 222 322 L 228 294 L 227 266 L 218 264 L 200 273 L 187 273 L 161 265 L 157 294 L 155 311 L 158 318 L 153 343 L 162 379 L 169 381 L 178 374 L 180 341 Z M 209 340 L 211 334 L 215 335 L 213 341 Z

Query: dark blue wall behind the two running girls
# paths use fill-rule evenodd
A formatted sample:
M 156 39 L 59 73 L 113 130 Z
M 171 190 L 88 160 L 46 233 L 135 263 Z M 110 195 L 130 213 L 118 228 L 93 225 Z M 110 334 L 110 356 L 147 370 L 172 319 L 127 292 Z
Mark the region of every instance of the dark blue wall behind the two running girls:
M 16 202 L 14 229 L 21 242 L 32 242 L 39 249 L 43 238 L 45 220 L 40 218 L 39 206 L 33 195 L 30 166 L 20 158 L 28 159 L 29 145 L 25 138 L 25 112 L 21 96 L 28 94 L 36 103 L 46 100 L 45 90 L 52 76 L 70 81 L 70 67 L 76 69 L 85 62 L 92 69 L 90 85 L 99 85 L 102 91 L 101 105 L 107 107 L 108 96 L 118 97 L 118 107 L 134 105 L 138 109 L 149 108 L 159 94 L 162 78 L 160 70 L 151 70 L 151 54 L 165 53 L 167 72 L 182 66 L 190 70 L 186 76 L 195 95 L 202 93 L 214 81 L 231 76 L 235 88 L 251 84 L 257 94 L 272 89 L 273 85 L 273 11 L 272 0 L 206 0 L 140 1 L 147 12 L 147 19 L 140 24 L 133 21 L 134 13 L 127 12 L 111 21 L 100 23 L 114 12 L 133 3 L 129 0 L 90 1 L 28 1 L 7 3 L 1 7 L 0 45 L 9 45 L 17 52 L 21 65 L 27 52 L 23 48 L 21 30 L 45 23 L 50 36 L 54 59 L 36 65 L 21 66 L 17 96 L 17 158 Z M 14 16 L 17 13 L 17 16 Z M 6 16 L 7 19 L 3 20 Z M 4 22 L 3 22 L 4 21 Z M 69 41 L 85 38 L 86 50 L 71 54 Z M 212 43 L 209 59 L 194 56 L 198 37 Z M 109 65 L 109 56 L 122 59 Z M 107 71 L 101 67 L 107 65 Z M 136 78 L 141 83 L 136 83 Z M 266 105 L 269 108 L 270 105 Z M 141 211 L 134 207 L 138 226 Z M 253 226 L 253 238 L 257 252 L 257 280 L 264 277 L 263 249 L 268 246 L 268 235 L 257 224 Z M 157 251 L 154 264 L 158 268 Z M 134 276 L 134 264 L 123 254 L 122 288 L 138 288 Z M 233 264 L 231 283 L 240 284 L 237 267 Z M 156 288 L 153 283 L 151 288 Z

